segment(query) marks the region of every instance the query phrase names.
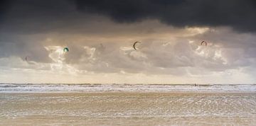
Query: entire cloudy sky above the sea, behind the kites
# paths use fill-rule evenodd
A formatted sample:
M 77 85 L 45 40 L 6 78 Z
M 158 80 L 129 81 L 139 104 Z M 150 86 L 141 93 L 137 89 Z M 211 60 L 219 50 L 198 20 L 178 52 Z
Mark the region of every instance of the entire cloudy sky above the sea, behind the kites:
M 255 84 L 255 12 L 254 0 L 0 0 L 0 82 Z

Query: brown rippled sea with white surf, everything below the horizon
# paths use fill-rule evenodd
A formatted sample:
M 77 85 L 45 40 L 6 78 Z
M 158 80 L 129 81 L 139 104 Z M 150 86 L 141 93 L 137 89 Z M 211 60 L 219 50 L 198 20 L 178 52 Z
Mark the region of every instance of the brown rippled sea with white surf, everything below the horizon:
M 0 125 L 256 125 L 256 84 L 0 84 Z

